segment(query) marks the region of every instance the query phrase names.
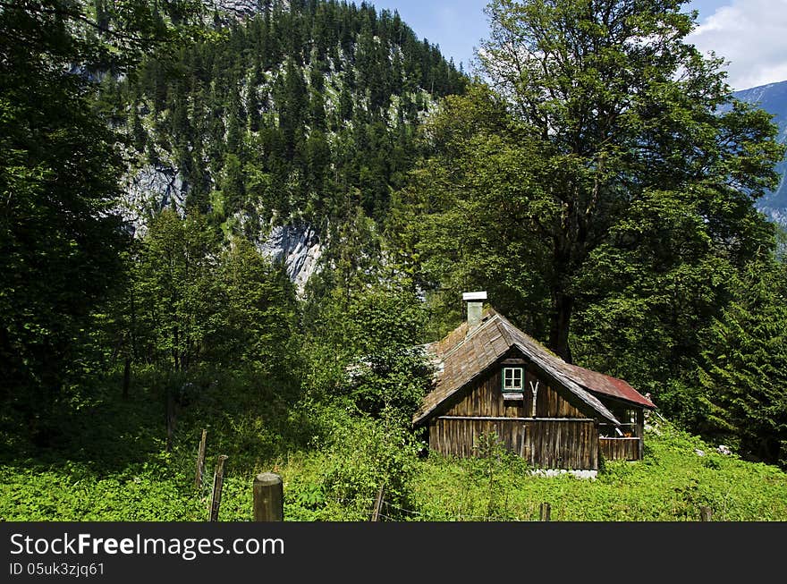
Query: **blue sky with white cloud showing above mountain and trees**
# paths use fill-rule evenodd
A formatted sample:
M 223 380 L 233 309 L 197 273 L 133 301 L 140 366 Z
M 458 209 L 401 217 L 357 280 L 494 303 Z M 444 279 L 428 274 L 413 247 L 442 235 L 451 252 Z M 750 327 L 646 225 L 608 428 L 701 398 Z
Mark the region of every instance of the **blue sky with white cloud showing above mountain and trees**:
M 360 3 L 360 2 L 359 2 Z M 419 38 L 439 45 L 469 70 L 473 48 L 487 37 L 487 0 L 371 0 L 377 10 L 399 11 Z M 727 65 L 733 89 L 787 80 L 787 0 L 692 0 L 698 30 L 690 38 Z

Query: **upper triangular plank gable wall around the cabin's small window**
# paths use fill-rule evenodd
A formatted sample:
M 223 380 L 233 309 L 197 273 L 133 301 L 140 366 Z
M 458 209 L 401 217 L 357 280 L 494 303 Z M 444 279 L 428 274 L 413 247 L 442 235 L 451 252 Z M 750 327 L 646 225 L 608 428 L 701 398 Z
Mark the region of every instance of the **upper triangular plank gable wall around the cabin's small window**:
M 512 366 L 516 367 L 516 366 Z M 531 371 L 525 376 L 524 402 L 504 400 L 501 389 L 502 366 L 492 368 L 485 377 L 463 390 L 461 402 L 456 403 L 445 416 L 486 416 L 491 418 L 530 418 L 533 407 L 533 393 L 530 382 L 538 381 L 536 398 L 537 418 L 587 418 L 571 403 L 543 380 L 538 380 Z

